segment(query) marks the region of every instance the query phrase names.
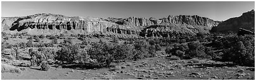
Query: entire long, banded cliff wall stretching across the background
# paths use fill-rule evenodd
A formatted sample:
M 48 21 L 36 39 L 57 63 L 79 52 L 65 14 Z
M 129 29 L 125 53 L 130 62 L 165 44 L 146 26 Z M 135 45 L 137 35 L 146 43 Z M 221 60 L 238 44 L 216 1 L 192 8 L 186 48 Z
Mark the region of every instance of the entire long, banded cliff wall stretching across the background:
M 176 33 L 180 33 L 178 36 L 195 35 L 198 32 L 208 33 L 212 26 L 217 26 L 220 23 L 209 18 L 185 15 L 168 16 L 162 19 L 135 17 L 102 19 L 45 13 L 22 17 L 2 17 L 1 21 L 2 31 L 27 31 L 42 34 L 60 34 L 72 31 L 72 33 L 80 34 L 97 32 L 135 36 L 172 36 L 177 35 Z

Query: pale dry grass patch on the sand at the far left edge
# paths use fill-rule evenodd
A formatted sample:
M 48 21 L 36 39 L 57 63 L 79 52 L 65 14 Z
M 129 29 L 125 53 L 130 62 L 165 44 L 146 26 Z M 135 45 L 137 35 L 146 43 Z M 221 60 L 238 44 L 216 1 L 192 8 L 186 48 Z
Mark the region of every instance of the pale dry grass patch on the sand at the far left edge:
M 2 63 L 1 66 L 2 66 L 2 71 L 1 72 L 22 73 L 20 68 L 16 68 L 14 66 L 11 66 L 11 65 L 8 65 L 8 64 L 4 64 L 4 63 Z

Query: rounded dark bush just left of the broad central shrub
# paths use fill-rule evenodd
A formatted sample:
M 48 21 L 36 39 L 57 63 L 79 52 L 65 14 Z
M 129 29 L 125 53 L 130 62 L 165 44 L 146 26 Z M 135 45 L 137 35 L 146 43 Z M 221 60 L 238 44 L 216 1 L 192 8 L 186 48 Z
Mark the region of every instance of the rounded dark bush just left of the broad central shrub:
M 56 56 L 54 58 L 56 60 L 60 60 L 61 62 L 72 63 L 75 60 L 75 56 L 77 56 L 77 54 L 79 53 L 78 49 L 78 45 L 72 45 L 67 43 L 61 47 L 61 50 L 56 53 Z

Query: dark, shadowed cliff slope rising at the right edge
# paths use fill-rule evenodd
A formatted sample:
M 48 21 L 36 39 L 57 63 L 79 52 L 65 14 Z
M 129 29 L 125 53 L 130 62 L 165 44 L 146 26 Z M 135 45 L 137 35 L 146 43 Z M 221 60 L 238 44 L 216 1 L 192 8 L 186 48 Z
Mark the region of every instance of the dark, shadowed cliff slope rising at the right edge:
M 212 28 L 212 32 L 221 32 L 225 33 L 227 31 L 233 31 L 234 33 L 238 33 L 240 28 L 245 30 L 250 30 L 254 32 L 255 26 L 255 16 L 254 10 L 243 13 L 240 17 L 230 18 L 226 21 L 223 21 L 218 26 Z

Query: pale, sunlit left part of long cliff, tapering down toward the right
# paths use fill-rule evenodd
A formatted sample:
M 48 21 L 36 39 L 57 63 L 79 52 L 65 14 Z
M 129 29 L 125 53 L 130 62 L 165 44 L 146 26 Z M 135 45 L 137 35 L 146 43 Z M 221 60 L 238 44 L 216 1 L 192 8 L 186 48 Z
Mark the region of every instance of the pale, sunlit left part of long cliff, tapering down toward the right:
M 3 26 L 4 25 L 4 26 Z M 86 33 L 113 32 L 127 35 L 138 35 L 134 27 L 122 26 L 99 18 L 67 17 L 58 14 L 34 14 L 20 18 L 3 18 L 4 29 L 22 31 L 27 28 L 37 30 L 83 30 Z

